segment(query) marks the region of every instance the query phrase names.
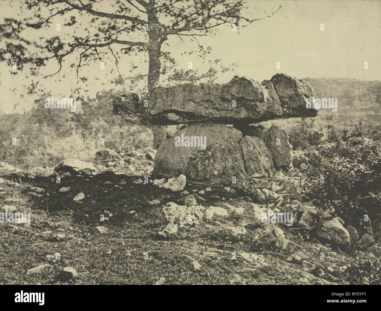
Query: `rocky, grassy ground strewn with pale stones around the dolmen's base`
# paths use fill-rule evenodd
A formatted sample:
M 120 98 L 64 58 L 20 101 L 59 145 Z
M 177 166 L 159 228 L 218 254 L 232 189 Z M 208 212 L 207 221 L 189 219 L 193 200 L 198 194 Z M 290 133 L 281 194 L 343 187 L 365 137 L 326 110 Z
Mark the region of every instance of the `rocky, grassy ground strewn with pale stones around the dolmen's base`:
M 0 212 L 31 213 L 30 226 L 0 224 L 0 284 L 380 284 L 376 236 L 305 202 L 305 165 L 251 176 L 259 203 L 184 175 L 146 183 L 154 157 L 119 148 L 92 164 L 0 163 Z M 293 225 L 262 223 L 269 209 Z

